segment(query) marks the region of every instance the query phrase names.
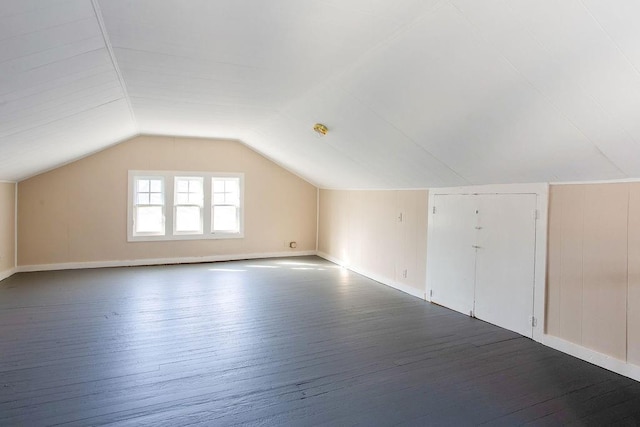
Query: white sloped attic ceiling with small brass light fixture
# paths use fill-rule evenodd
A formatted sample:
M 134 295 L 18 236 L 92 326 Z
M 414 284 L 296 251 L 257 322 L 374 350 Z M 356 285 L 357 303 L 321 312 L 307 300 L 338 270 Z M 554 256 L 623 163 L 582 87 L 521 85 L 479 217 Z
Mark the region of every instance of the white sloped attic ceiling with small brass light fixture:
M 2 0 L 0 179 L 137 134 L 238 139 L 327 188 L 639 178 L 638 16 L 637 0 Z

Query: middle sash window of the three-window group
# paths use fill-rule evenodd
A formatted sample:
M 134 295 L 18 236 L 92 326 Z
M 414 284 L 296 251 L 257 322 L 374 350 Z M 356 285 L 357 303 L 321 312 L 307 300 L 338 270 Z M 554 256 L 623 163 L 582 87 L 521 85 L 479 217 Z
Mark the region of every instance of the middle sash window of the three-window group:
M 202 177 L 176 177 L 174 234 L 202 234 Z

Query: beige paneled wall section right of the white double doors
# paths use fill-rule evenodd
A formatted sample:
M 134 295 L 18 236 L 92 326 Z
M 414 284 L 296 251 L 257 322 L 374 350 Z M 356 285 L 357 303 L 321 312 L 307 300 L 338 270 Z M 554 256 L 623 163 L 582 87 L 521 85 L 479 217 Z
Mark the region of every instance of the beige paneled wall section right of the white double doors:
M 640 364 L 640 183 L 554 185 L 550 335 Z

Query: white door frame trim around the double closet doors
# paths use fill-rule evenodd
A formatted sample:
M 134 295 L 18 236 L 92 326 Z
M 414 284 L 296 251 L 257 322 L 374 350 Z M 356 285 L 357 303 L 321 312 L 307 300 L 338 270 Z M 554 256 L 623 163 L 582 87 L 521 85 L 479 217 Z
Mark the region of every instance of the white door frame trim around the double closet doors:
M 546 268 L 547 268 L 547 224 L 549 205 L 549 184 L 504 184 L 504 185 L 475 185 L 467 187 L 447 187 L 429 189 L 428 222 L 427 222 L 427 274 L 426 300 L 431 302 L 431 283 L 433 278 L 429 274 L 433 255 L 429 248 L 433 246 L 433 206 L 436 195 L 480 195 L 480 194 L 535 194 L 536 195 L 536 237 L 535 237 L 535 266 L 533 284 L 533 316 L 536 325 L 533 327 L 533 339 L 543 341 L 545 325 L 546 301 Z

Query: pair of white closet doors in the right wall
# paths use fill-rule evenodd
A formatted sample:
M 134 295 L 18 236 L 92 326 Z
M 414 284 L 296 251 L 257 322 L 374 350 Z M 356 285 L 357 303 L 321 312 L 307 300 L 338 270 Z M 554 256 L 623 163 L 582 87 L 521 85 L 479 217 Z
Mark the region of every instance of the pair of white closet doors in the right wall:
M 435 195 L 431 301 L 531 337 L 535 194 Z

